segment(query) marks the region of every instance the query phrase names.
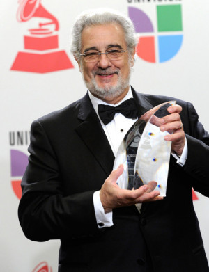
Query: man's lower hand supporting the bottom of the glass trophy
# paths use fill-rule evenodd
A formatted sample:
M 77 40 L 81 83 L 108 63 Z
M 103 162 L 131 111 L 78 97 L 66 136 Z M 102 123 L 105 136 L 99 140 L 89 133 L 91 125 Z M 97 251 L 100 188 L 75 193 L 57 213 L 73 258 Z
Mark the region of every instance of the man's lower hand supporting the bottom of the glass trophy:
M 104 212 L 111 211 L 118 207 L 163 199 L 162 196 L 159 196 L 159 191 L 153 191 L 157 186 L 157 182 L 149 182 L 148 185 L 141 186 L 139 189 L 132 191 L 121 189 L 116 184 L 116 181 L 122 173 L 123 165 L 121 164 L 116 170 L 111 172 L 102 185 L 100 200 L 104 207 Z

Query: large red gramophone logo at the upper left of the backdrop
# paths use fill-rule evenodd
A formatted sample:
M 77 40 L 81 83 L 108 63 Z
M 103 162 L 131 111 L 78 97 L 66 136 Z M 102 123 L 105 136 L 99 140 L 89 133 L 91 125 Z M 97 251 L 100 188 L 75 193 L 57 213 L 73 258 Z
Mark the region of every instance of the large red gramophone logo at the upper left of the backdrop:
M 40 3 L 41 0 L 19 0 L 17 21 L 41 18 L 38 28 L 24 35 L 24 51 L 19 51 L 11 70 L 47 73 L 73 68 L 64 50 L 59 50 L 59 22 Z M 34 19 L 36 22 L 36 20 Z

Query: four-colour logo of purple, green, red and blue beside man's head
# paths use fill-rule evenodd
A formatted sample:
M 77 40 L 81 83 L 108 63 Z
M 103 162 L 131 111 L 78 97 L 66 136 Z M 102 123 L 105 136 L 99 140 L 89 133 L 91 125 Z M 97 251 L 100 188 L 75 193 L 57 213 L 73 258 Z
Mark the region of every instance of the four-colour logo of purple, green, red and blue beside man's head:
M 183 42 L 181 5 L 157 5 L 157 26 L 139 8 L 128 8 L 136 33 L 140 33 L 137 55 L 150 63 L 164 63 L 178 53 Z

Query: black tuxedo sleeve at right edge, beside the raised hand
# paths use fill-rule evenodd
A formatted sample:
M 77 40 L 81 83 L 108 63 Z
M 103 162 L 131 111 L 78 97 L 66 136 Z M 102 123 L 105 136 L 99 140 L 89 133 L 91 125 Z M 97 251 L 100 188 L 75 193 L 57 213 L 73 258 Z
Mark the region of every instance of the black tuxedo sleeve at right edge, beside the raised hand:
M 199 122 L 199 116 L 192 104 L 187 103 L 187 109 L 183 111 L 186 111 L 182 121 L 188 147 L 184 170 L 191 177 L 194 190 L 209 196 L 209 135 Z

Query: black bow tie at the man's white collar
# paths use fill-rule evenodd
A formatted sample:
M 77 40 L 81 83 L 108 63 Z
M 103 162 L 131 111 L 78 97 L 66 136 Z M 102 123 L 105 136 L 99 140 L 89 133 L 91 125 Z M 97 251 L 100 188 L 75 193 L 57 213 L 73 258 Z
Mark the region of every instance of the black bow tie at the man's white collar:
M 125 100 L 119 106 L 98 105 L 98 113 L 104 125 L 113 120 L 116 113 L 123 114 L 126 118 L 135 119 L 138 117 L 137 104 L 133 98 Z

